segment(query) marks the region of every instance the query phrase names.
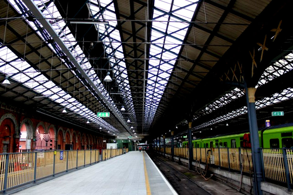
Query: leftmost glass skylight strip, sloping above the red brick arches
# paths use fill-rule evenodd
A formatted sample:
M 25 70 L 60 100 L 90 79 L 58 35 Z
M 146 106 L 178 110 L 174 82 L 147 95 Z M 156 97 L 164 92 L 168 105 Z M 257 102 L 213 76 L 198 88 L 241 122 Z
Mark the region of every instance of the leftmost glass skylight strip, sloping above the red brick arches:
M 75 98 L 72 98 L 67 92 L 48 80 L 40 71 L 31 67 L 26 61 L 18 58 L 10 49 L 0 43 L 0 72 L 9 76 L 15 82 L 19 82 L 29 89 L 42 96 L 50 98 L 66 108 L 69 111 L 75 112 L 91 123 L 96 123 L 104 128 L 110 129 L 113 132 L 117 130 L 106 121 L 97 117 L 86 106 L 79 103 Z

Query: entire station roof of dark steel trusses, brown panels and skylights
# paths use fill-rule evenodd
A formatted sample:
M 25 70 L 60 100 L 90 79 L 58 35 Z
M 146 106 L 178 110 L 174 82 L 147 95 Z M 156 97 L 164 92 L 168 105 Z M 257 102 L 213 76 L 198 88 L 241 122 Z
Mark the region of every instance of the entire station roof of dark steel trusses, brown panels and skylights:
M 0 0 L 1 102 L 120 139 L 247 121 L 244 79 L 289 111 L 291 4 Z

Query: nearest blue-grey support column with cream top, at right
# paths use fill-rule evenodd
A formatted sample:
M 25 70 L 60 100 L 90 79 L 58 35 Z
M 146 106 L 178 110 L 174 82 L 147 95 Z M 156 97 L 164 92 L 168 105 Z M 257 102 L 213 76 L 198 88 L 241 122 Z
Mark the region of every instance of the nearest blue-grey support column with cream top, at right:
M 256 108 L 255 108 L 255 91 L 256 88 L 247 88 L 245 85 L 246 102 L 247 102 L 247 115 L 249 123 L 249 132 L 251 139 L 251 153 L 252 153 L 252 164 L 254 172 L 253 191 L 254 194 L 262 195 L 260 183 L 262 181 L 262 163 L 260 158 L 260 142 L 258 136 L 258 127 L 256 119 Z

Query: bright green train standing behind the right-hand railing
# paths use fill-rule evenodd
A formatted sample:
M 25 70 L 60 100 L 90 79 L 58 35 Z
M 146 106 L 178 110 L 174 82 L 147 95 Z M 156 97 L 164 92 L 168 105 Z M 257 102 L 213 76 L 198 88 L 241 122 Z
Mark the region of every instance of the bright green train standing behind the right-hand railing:
M 293 148 L 293 123 L 264 128 L 258 131 L 260 147 L 262 148 Z M 188 141 L 182 142 L 182 147 L 188 147 Z M 192 141 L 194 148 L 239 148 L 251 147 L 249 133 L 219 135 L 199 138 Z

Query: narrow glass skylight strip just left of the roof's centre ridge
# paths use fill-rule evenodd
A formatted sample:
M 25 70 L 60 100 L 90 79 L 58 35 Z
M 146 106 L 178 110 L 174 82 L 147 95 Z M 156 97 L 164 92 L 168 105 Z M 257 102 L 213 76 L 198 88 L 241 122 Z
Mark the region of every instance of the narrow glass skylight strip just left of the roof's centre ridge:
M 131 119 L 136 121 L 131 91 L 129 87 L 129 80 L 126 70 L 126 64 L 124 60 L 124 54 L 122 50 L 122 44 L 119 31 L 116 29 L 117 21 L 114 3 L 110 0 L 100 0 L 100 4 L 89 2 L 91 16 L 94 19 L 100 21 L 108 20 L 109 24 L 96 24 L 96 29 L 99 32 L 99 41 L 103 41 L 105 52 L 110 61 L 110 66 L 113 70 L 114 77 L 117 80 L 118 87 L 121 93 L 123 93 L 123 100 L 125 102 L 126 110 L 131 113 Z M 98 3 L 98 2 L 97 2 Z M 102 9 L 103 14 L 98 14 Z M 109 21 L 110 20 L 110 21 Z

